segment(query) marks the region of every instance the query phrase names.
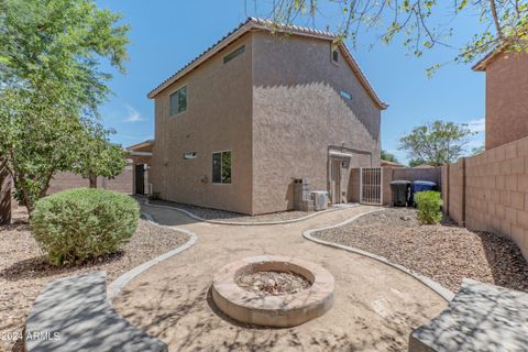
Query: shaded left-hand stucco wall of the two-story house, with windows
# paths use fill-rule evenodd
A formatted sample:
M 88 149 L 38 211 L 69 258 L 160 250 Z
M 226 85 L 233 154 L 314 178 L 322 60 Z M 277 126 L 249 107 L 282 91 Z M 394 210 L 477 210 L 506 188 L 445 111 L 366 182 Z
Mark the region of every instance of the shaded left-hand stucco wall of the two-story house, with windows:
M 245 53 L 223 64 L 223 56 L 241 45 Z M 251 58 L 250 33 L 156 96 L 148 176 L 162 198 L 252 213 Z M 187 111 L 169 117 L 169 95 L 184 85 Z M 232 152 L 232 184 L 215 185 L 211 154 L 227 150 Z M 197 157 L 184 160 L 188 152 Z

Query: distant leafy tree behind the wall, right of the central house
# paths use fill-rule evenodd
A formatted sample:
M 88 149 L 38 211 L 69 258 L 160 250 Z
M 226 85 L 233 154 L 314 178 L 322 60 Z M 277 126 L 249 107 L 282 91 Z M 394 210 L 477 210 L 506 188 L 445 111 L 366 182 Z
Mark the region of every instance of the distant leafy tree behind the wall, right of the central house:
M 466 124 L 437 120 L 416 127 L 400 138 L 399 148 L 407 151 L 411 160 L 440 166 L 455 162 L 464 152 L 468 136 L 472 134 Z

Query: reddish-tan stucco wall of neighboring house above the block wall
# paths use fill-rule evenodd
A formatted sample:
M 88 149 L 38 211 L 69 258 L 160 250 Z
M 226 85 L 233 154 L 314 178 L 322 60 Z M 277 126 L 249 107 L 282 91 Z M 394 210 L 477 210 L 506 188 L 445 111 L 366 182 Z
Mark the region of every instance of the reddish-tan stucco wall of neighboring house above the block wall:
M 486 150 L 528 136 L 528 54 L 504 53 L 486 67 Z

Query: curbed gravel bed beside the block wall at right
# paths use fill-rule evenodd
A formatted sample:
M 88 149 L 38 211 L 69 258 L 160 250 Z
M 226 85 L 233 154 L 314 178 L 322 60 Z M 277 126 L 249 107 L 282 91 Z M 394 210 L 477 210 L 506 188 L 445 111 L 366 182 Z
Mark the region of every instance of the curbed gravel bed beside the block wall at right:
M 391 208 L 314 235 L 385 256 L 453 292 L 464 277 L 528 292 L 528 263 L 513 241 L 449 219 L 421 226 L 414 209 Z

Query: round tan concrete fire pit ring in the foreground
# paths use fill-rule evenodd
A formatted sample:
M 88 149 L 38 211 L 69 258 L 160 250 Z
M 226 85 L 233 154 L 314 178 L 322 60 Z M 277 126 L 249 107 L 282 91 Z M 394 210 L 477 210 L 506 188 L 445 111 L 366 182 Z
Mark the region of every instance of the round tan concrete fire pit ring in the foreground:
M 309 283 L 294 294 L 257 294 L 239 286 L 239 278 L 258 272 L 290 273 Z M 220 268 L 212 282 L 212 299 L 232 319 L 265 327 L 295 327 L 327 312 L 333 304 L 333 276 L 319 265 L 301 260 L 261 255 Z

